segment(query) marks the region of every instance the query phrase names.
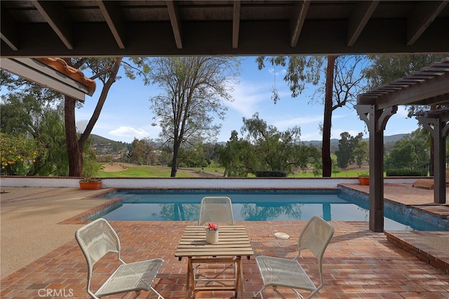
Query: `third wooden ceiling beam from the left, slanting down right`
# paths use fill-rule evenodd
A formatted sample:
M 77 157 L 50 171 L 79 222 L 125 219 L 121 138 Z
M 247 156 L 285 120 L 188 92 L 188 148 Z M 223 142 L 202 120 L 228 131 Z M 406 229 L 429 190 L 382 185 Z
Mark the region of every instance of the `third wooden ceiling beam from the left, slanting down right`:
M 119 48 L 125 48 L 125 23 L 123 21 L 123 16 L 119 8 L 118 1 L 97 1 L 100 11 L 105 17 L 106 23 L 111 29 L 112 35 L 119 45 Z

